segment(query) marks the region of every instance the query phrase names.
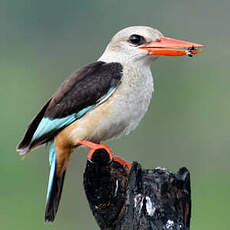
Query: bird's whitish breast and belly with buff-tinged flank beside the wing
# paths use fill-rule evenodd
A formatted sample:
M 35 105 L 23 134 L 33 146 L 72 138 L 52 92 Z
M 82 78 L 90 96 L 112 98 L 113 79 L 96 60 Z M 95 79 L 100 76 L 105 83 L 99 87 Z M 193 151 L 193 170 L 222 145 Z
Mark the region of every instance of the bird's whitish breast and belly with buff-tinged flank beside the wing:
M 128 134 L 148 110 L 153 92 L 149 68 L 123 69 L 122 83 L 103 104 L 82 117 L 74 135 L 94 142 Z

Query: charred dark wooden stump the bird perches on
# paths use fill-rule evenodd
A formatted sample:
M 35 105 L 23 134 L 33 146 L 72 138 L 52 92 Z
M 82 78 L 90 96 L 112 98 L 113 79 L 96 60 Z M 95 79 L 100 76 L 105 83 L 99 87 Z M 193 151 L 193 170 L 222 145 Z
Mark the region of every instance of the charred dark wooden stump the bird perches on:
M 190 174 L 165 169 L 142 169 L 134 162 L 127 171 L 96 150 L 87 161 L 84 188 L 102 230 L 189 230 Z

